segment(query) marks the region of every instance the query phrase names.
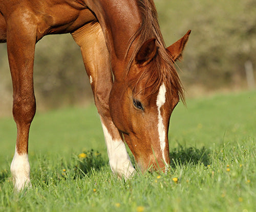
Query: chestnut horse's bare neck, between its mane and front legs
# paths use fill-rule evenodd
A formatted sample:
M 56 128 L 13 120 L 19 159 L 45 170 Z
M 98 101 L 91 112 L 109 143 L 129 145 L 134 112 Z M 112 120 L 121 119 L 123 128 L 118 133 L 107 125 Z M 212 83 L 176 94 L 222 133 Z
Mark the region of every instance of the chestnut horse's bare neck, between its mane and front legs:
M 89 0 L 87 5 L 96 14 L 102 28 L 106 45 L 110 52 L 112 67 L 119 69 L 117 63 L 127 62 L 133 52 L 131 38 L 141 25 L 141 16 L 136 0 Z M 127 52 L 129 50 L 129 52 Z M 126 53 L 127 57 L 126 57 Z M 125 64 L 122 64 L 125 65 Z M 116 67 L 116 68 L 115 68 Z M 125 69 L 125 68 L 121 68 Z

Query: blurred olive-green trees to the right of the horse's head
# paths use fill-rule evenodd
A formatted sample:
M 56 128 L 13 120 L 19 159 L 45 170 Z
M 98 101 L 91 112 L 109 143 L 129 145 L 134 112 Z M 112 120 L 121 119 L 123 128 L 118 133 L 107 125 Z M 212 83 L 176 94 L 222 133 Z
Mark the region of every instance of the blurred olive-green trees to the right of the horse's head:
M 232 3 L 221 0 L 158 0 L 156 4 L 166 43 L 170 44 L 188 29 L 192 30 L 185 59 L 178 63 L 186 88 L 201 86 L 207 90 L 219 90 L 245 87 L 245 61 L 250 60 L 256 67 L 254 0 L 233 0 Z

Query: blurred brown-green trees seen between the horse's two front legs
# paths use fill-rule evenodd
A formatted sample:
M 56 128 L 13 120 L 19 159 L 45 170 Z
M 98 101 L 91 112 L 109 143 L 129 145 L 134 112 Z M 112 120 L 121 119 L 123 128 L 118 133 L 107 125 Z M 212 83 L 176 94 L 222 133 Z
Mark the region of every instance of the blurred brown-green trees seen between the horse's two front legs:
M 70 34 L 50 35 L 36 45 L 36 92 L 47 105 L 77 105 L 92 100 L 80 48 Z

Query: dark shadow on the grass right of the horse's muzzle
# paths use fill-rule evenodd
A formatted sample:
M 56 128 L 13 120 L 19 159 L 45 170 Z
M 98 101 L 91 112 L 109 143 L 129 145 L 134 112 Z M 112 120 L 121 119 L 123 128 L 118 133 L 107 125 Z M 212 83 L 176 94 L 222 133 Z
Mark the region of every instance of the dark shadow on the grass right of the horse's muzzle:
M 183 147 L 181 145 L 178 148 L 170 151 L 170 166 L 175 168 L 176 166 L 186 165 L 186 164 L 201 164 L 207 166 L 210 162 L 210 151 L 205 147 L 198 149 L 196 147 Z

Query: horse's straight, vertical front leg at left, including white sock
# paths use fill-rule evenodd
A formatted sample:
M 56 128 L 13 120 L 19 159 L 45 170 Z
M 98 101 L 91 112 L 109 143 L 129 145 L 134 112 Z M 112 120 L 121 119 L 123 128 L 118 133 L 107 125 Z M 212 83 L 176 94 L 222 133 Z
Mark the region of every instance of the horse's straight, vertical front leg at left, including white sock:
M 14 189 L 30 186 L 28 158 L 29 128 L 36 110 L 33 88 L 33 63 L 36 26 L 19 14 L 7 20 L 7 51 L 13 84 L 13 117 L 17 139 L 11 163 Z

